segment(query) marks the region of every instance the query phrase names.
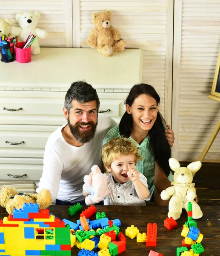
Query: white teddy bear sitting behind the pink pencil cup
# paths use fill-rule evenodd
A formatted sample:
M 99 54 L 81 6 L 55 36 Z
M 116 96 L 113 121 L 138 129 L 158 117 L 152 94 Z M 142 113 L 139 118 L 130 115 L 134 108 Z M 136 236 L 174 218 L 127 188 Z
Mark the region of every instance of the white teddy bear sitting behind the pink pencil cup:
M 20 42 L 26 41 L 29 33 L 36 35 L 36 39 L 31 44 L 31 54 L 39 54 L 40 53 L 40 46 L 37 40 L 39 38 L 46 38 L 47 32 L 43 29 L 37 27 L 38 20 L 40 19 L 39 12 L 23 12 L 18 13 L 15 16 L 16 20 L 20 27 L 11 26 L 11 34 L 18 36 L 17 39 Z

